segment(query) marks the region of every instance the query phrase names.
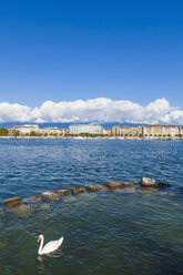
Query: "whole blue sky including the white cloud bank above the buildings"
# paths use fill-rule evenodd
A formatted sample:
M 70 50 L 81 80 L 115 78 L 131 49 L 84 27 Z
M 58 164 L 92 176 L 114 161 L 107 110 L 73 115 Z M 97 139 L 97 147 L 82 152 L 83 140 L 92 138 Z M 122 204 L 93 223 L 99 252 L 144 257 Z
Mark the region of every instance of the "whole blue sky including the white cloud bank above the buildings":
M 0 122 L 183 124 L 182 0 L 0 1 Z

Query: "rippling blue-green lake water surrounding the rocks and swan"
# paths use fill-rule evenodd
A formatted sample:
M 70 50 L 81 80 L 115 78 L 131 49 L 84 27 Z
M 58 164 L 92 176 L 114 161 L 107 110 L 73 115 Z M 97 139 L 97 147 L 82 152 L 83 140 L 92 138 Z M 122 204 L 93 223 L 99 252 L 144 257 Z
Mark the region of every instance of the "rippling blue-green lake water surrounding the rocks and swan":
M 142 176 L 171 187 L 84 192 L 19 215 L 3 204 Z M 62 247 L 38 256 L 41 233 L 45 243 L 63 236 Z M 183 274 L 183 142 L 0 140 L 0 275 L 12 274 Z

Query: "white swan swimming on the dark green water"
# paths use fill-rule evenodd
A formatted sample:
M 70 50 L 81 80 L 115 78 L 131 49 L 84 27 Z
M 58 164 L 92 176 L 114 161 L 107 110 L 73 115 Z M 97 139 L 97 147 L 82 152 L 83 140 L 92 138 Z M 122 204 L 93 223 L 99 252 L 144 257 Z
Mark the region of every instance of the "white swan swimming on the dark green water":
M 48 254 L 50 252 L 57 251 L 61 246 L 61 244 L 63 242 L 63 237 L 61 237 L 57 241 L 49 242 L 48 244 L 44 245 L 44 247 L 43 247 L 44 236 L 42 234 L 39 235 L 37 242 L 40 242 L 40 241 L 41 241 L 41 243 L 40 243 L 40 247 L 38 249 L 38 254 L 43 255 L 43 254 Z

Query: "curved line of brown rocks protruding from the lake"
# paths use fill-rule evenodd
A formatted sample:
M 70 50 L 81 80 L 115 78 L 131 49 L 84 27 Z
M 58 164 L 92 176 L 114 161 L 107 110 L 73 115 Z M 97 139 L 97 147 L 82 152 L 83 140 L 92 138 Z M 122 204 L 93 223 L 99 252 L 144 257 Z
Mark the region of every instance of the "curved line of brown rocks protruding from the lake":
M 71 187 L 64 190 L 55 190 L 55 191 L 47 191 L 41 195 L 32 196 L 29 198 L 22 200 L 20 196 L 14 196 L 7 198 L 4 202 L 6 210 L 11 213 L 16 213 L 18 215 L 23 215 L 31 212 L 31 204 L 41 203 L 41 208 L 48 210 L 50 208 L 49 201 L 59 200 L 63 196 L 64 202 L 74 202 L 77 197 L 74 195 L 81 194 L 84 191 L 87 192 L 98 192 L 98 191 L 120 191 L 125 190 L 128 193 L 135 193 L 145 191 L 145 190 L 155 190 L 159 187 L 170 187 L 171 185 L 167 183 L 159 183 L 150 177 L 142 177 L 139 184 L 129 182 L 129 183 L 120 183 L 120 182 L 106 182 L 103 185 L 100 184 L 85 184 L 85 187 Z M 129 191 L 128 191 L 129 190 Z

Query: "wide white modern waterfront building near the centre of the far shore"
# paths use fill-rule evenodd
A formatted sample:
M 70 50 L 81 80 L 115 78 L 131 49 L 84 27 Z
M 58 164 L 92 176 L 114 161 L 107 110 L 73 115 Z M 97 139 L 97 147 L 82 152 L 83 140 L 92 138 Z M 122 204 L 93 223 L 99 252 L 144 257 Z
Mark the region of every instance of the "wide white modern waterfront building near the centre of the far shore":
M 90 124 L 80 124 L 80 125 L 70 125 L 69 134 L 103 134 L 104 130 L 101 125 L 90 125 Z

